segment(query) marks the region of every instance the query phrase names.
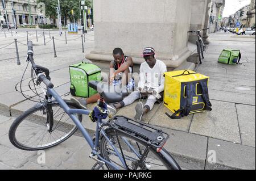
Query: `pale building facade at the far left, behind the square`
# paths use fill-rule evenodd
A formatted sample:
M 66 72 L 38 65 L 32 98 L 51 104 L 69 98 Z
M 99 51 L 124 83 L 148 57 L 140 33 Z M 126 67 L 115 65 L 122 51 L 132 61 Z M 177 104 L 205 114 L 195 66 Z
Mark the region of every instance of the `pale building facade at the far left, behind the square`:
M 42 24 L 46 22 L 44 12 L 38 7 L 36 0 L 1 0 L 0 11 L 5 22 L 15 22 L 18 26 L 24 23 Z

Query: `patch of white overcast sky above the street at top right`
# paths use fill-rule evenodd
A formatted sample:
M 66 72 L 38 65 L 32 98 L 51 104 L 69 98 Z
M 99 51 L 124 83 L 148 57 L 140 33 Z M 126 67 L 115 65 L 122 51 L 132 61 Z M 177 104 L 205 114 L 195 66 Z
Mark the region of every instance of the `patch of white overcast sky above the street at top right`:
M 250 5 L 251 0 L 226 0 L 223 17 L 228 17 L 240 10 L 241 7 Z

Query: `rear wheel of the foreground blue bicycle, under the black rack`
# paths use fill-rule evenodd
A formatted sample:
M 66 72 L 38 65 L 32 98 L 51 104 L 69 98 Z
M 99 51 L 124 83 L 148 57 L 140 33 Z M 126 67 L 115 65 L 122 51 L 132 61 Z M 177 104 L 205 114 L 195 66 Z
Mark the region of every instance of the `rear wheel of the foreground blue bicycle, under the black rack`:
M 141 140 L 131 137 L 129 134 L 110 131 L 108 138 L 118 152 L 125 157 L 125 163 L 130 170 L 174 170 L 180 169 L 179 165 L 164 149 L 157 152 L 156 148 L 148 147 Z M 118 142 L 119 141 L 119 142 Z M 100 142 L 101 155 L 107 161 L 113 163 L 119 169 L 127 169 L 123 166 L 117 153 L 114 151 L 108 140 L 103 136 Z M 144 155 L 144 156 L 143 156 Z M 114 169 L 106 163 L 108 169 Z

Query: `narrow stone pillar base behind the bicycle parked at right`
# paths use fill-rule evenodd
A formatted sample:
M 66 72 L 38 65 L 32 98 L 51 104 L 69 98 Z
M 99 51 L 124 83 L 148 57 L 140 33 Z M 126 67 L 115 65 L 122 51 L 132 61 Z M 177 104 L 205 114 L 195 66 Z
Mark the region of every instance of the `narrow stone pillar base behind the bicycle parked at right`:
M 207 12 L 208 0 L 191 0 L 191 23 L 189 30 L 201 30 L 205 27 L 205 14 Z M 201 33 L 203 35 L 203 32 Z M 189 33 L 191 43 L 196 44 L 196 33 Z

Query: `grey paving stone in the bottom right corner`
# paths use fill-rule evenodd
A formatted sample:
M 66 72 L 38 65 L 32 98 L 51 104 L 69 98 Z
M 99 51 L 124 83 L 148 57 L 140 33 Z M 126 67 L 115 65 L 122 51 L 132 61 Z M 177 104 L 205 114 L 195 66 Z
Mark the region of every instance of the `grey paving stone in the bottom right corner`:
M 213 161 L 213 151 L 216 153 L 216 163 Z M 255 170 L 255 148 L 232 142 L 209 138 L 205 169 L 248 169 Z

